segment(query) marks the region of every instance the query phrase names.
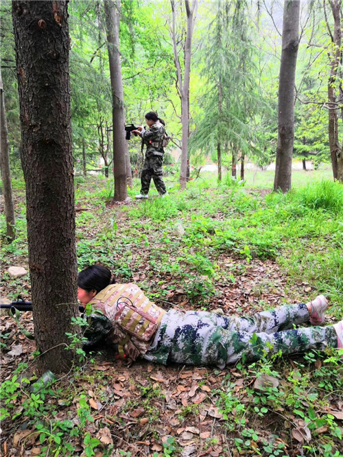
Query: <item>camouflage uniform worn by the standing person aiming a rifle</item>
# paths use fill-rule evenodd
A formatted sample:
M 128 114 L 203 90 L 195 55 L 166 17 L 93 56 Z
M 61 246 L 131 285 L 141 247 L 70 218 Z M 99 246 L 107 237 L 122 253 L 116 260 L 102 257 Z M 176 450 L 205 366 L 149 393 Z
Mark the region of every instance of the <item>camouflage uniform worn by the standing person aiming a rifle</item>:
M 147 145 L 141 174 L 141 195 L 149 193 L 151 179 L 154 180 L 158 194 L 163 195 L 167 191 L 162 179 L 164 134 L 165 128 L 160 121 L 155 122 L 149 130 L 144 130 L 141 134 L 142 141 Z

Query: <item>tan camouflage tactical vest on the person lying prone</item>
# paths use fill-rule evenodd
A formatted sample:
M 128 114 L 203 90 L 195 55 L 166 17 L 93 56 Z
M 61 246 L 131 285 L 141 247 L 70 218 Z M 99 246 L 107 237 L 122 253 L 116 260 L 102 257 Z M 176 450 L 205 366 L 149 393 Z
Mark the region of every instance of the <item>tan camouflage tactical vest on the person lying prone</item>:
M 108 285 L 89 304 L 112 323 L 107 340 L 118 344 L 119 356 L 125 360 L 145 354 L 165 314 L 133 283 Z

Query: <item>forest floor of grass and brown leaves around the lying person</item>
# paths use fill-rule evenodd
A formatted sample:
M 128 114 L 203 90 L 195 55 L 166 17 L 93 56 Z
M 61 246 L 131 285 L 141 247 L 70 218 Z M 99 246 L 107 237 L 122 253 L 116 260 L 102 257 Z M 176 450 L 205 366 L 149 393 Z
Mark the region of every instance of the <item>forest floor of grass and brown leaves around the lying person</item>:
M 324 293 L 327 324 L 342 318 L 339 186 L 323 182 L 283 196 L 202 179 L 184 192 L 169 189 L 167 198 L 128 204 L 111 203 L 112 189 L 99 177 L 75 182 L 80 269 L 102 263 L 165 309 L 246 316 Z M 31 298 L 28 274 L 7 272 L 28 270 L 23 183 L 14 191 L 18 238 L 1 248 L 1 303 Z M 20 324 L 33 333 L 32 313 L 21 314 Z M 81 354 L 70 373 L 32 392 L 34 342 L 3 310 L 0 332 L 4 457 L 342 456 L 337 351 L 220 370 L 126 366 L 104 348 Z

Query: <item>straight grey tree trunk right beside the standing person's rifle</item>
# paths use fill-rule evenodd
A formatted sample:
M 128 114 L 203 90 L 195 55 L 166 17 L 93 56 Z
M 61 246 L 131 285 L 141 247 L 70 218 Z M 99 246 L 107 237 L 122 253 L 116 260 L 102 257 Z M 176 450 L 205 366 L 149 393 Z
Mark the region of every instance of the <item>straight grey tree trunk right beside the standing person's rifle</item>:
M 105 23 L 110 65 L 110 85 L 113 97 L 113 170 L 115 176 L 115 201 L 128 198 L 127 157 L 128 143 L 125 139 L 125 114 L 123 103 L 123 80 L 119 51 L 120 0 L 105 0 Z

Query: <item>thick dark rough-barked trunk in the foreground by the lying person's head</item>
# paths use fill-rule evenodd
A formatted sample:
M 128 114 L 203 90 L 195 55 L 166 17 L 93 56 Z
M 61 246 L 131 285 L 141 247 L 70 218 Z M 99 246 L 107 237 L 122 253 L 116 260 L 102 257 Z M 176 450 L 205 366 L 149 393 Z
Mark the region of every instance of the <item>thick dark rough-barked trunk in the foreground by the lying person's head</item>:
M 54 373 L 78 315 L 67 3 L 12 3 L 37 363 Z

